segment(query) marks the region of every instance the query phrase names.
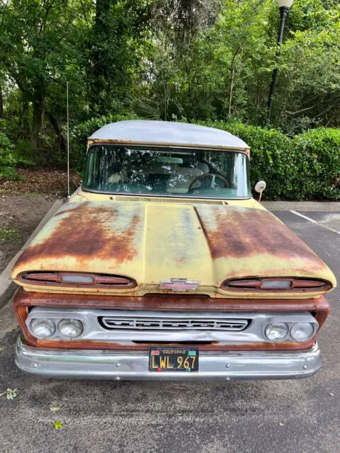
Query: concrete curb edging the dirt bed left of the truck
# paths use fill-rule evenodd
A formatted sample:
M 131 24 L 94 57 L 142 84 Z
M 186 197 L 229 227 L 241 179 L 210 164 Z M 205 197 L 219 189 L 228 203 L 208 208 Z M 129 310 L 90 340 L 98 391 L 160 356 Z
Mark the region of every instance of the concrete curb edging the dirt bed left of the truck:
M 55 200 L 53 205 L 50 207 L 50 210 L 45 214 L 45 217 L 40 221 L 40 224 L 35 228 L 33 233 L 30 235 L 26 243 L 23 244 L 21 249 L 16 253 L 11 261 L 6 265 L 6 268 L 0 274 L 0 309 L 6 304 L 8 299 L 10 299 L 14 292 L 16 291 L 17 285 L 11 280 L 11 270 L 13 265 L 16 263 L 16 260 L 21 256 L 23 250 L 29 245 L 30 241 L 38 234 L 42 226 L 44 226 L 50 218 L 59 210 L 60 207 L 64 204 L 64 200 Z

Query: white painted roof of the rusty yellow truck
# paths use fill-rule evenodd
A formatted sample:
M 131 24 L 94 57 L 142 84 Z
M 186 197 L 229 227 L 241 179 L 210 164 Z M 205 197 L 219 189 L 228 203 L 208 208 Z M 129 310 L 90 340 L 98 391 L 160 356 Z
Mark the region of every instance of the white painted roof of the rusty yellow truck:
M 249 149 L 243 140 L 224 130 L 169 121 L 113 122 L 98 129 L 89 137 L 89 140 L 126 144 Z

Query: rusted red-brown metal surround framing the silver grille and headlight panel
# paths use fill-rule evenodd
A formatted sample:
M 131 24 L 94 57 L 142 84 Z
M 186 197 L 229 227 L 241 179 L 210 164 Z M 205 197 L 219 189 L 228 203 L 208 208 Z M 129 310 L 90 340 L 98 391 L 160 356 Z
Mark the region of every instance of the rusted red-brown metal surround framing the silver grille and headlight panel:
M 318 299 L 212 299 L 208 296 L 183 296 L 146 294 L 144 297 L 129 296 L 91 296 L 67 294 L 31 293 L 20 289 L 14 299 L 14 309 L 26 342 L 40 348 L 73 348 L 73 349 L 110 349 L 110 350 L 146 350 L 146 345 L 113 345 L 95 341 L 52 341 L 36 340 L 26 328 L 28 306 L 64 306 L 101 309 L 140 309 L 140 310 L 174 310 L 174 311 L 310 311 L 322 327 L 329 314 L 329 304 L 321 296 Z M 314 338 L 307 343 L 252 343 L 242 345 L 200 345 L 202 350 L 302 350 L 312 347 Z

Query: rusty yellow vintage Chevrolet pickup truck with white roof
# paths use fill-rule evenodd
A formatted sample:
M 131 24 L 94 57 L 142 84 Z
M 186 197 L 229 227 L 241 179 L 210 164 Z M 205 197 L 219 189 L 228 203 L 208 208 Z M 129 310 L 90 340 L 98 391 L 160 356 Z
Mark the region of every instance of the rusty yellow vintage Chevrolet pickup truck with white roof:
M 320 367 L 331 270 L 251 197 L 229 132 L 123 121 L 13 268 L 16 365 L 43 377 L 292 379 Z

